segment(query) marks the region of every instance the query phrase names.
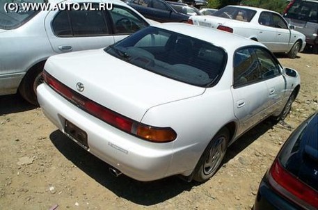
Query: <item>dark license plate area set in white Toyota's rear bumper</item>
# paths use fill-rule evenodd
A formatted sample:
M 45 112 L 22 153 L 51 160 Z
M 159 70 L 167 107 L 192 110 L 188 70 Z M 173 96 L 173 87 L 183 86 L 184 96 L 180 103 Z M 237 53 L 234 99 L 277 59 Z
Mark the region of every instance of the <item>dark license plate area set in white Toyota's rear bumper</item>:
M 85 131 L 77 127 L 76 125 L 72 124 L 72 122 L 65 120 L 65 134 L 70 138 L 74 139 L 81 147 L 88 150 L 88 143 L 87 143 L 87 134 Z

